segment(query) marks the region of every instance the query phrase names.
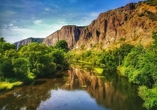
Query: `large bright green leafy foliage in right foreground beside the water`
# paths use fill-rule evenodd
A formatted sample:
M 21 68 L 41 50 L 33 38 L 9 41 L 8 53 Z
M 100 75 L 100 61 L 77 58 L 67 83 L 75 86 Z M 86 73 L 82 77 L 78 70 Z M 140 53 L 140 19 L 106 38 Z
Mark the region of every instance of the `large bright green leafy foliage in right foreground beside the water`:
M 147 109 L 157 108 L 157 33 L 152 37 L 154 45 L 133 48 L 118 67 L 130 82 L 140 85 L 139 95 Z

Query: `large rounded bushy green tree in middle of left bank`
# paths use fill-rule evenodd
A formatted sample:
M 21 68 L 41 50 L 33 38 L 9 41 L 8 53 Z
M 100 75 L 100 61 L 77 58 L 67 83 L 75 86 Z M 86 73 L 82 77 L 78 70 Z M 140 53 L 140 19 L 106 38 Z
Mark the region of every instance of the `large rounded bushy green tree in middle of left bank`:
M 49 53 L 52 50 L 42 44 L 31 43 L 19 50 L 19 55 L 27 59 L 30 63 L 30 72 L 37 77 L 46 74 L 52 74 L 55 70 L 55 64 Z M 50 68 L 51 67 L 51 68 Z

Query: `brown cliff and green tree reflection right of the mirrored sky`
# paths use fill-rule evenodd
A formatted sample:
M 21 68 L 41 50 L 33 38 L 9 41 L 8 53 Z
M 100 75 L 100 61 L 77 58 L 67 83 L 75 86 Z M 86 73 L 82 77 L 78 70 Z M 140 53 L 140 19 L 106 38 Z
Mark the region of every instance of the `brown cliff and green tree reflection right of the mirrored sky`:
M 72 69 L 68 71 L 68 75 L 62 89 L 84 89 L 100 106 L 113 110 L 145 110 L 142 107 L 143 101 L 137 96 L 135 85 L 116 73 L 100 77 L 92 72 Z

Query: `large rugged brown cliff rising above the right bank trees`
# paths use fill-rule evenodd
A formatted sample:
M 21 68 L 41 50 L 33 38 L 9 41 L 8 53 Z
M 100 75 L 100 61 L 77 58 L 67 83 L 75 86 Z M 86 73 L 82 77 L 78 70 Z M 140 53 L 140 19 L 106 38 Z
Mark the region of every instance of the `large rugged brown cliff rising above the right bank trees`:
M 130 3 L 124 7 L 101 13 L 89 26 L 63 26 L 46 37 L 46 45 L 66 40 L 69 48 L 108 48 L 123 42 L 144 46 L 152 43 L 152 32 L 157 31 L 157 6 Z

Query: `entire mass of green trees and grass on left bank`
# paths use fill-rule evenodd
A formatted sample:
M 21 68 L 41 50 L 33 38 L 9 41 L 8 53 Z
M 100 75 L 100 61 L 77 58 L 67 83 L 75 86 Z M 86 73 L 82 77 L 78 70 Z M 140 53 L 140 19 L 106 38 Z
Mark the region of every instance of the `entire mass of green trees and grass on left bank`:
M 59 41 L 55 47 L 31 43 L 16 50 L 15 45 L 0 38 L 0 89 L 55 75 L 68 66 L 65 59 L 67 47 L 65 41 Z

